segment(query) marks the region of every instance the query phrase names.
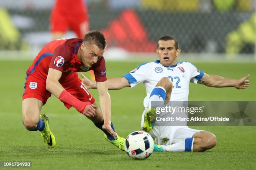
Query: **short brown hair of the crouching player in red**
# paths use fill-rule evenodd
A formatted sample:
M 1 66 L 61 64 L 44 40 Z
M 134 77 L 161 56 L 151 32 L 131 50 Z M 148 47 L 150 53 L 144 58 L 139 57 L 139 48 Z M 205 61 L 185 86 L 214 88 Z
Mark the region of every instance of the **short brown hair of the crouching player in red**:
M 83 42 L 89 42 L 91 44 L 95 44 L 102 50 L 105 50 L 105 47 L 106 47 L 106 40 L 104 35 L 97 30 L 92 30 L 87 32 L 84 35 Z

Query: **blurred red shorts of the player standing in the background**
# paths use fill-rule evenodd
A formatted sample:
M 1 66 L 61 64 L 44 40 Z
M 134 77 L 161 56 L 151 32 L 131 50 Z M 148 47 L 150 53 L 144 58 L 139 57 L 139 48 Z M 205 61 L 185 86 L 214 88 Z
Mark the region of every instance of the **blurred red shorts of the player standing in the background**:
M 78 38 L 83 38 L 89 31 L 89 23 L 87 14 L 81 13 L 63 13 L 61 10 L 53 10 L 51 13 L 51 32 L 67 32 L 70 28 L 77 34 Z

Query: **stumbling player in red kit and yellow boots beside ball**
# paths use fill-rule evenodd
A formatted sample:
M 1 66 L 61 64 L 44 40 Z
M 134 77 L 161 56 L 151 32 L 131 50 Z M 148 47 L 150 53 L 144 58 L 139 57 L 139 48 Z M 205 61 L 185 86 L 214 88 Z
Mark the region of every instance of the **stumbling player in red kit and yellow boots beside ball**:
M 105 37 L 99 31 L 88 32 L 84 39 L 54 40 L 43 47 L 28 68 L 22 101 L 23 124 L 27 130 L 39 130 L 48 148 L 54 148 L 56 141 L 48 117 L 40 112 L 53 94 L 68 109 L 74 107 L 92 120 L 105 133 L 106 140 L 124 150 L 124 138 L 115 133 L 111 122 L 105 48 Z M 88 70 L 95 72 L 101 110 L 77 74 Z

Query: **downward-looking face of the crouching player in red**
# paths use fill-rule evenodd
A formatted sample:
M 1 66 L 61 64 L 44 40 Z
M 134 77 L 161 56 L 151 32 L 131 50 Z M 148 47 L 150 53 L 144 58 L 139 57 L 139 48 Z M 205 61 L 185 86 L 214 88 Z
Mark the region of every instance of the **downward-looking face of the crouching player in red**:
M 100 49 L 95 44 L 85 45 L 84 42 L 81 45 L 81 61 L 87 68 L 92 67 L 102 56 L 104 50 Z

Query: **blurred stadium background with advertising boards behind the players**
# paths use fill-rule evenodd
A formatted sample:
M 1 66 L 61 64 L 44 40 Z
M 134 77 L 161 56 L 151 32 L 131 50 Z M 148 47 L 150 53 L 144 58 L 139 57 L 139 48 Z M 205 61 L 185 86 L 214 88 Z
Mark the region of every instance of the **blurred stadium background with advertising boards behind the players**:
M 0 0 L 1 59 L 33 59 L 51 41 L 49 18 L 54 2 Z M 101 30 L 107 39 L 107 59 L 156 57 L 159 37 L 174 35 L 184 60 L 256 60 L 256 0 L 84 2 L 90 30 Z M 65 37 L 76 35 L 69 31 Z

